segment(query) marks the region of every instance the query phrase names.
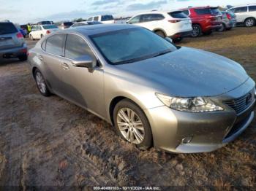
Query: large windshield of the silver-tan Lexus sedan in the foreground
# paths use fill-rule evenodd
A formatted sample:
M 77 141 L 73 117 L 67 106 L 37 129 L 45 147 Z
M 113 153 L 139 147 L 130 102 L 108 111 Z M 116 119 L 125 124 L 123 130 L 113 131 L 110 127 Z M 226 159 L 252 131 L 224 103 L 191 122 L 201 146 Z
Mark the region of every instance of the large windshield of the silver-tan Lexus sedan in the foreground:
M 90 36 L 110 64 L 132 63 L 176 50 L 167 40 L 145 28 L 129 28 Z

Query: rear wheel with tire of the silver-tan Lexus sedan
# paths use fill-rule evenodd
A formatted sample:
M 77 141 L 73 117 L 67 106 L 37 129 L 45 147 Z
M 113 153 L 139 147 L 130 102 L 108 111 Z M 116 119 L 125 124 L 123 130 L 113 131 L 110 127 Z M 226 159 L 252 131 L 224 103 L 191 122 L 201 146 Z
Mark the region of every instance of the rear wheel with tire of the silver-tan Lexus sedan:
M 45 79 L 42 76 L 42 73 L 39 71 L 39 69 L 36 69 L 34 71 L 34 80 L 36 81 L 37 89 L 42 95 L 44 95 L 45 97 L 48 97 L 51 95 L 50 90 L 45 83 Z

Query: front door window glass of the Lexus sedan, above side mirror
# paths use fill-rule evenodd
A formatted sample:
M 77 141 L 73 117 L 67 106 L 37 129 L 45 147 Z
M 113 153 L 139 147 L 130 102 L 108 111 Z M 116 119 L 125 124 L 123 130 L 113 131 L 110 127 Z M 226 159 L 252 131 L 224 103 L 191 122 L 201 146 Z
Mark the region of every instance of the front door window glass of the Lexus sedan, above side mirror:
M 68 34 L 65 48 L 65 57 L 69 59 L 80 58 L 83 55 L 90 55 L 96 61 L 94 53 L 89 45 L 80 36 Z

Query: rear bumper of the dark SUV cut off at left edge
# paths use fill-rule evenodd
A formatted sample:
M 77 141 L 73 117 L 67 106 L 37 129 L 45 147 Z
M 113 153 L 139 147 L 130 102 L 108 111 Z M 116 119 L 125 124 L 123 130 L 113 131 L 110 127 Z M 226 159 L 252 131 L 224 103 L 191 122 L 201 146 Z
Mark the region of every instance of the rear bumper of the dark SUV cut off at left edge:
M 0 58 L 17 58 L 20 55 L 26 55 L 27 52 L 28 47 L 24 43 L 22 47 L 0 50 Z

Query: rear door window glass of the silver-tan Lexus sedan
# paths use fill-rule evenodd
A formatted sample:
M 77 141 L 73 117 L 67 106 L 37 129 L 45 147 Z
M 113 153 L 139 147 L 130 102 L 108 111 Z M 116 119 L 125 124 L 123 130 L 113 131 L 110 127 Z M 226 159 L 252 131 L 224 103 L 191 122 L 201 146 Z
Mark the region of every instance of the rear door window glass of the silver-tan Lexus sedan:
M 53 55 L 63 55 L 66 34 L 55 34 L 47 39 L 45 51 Z

